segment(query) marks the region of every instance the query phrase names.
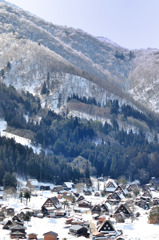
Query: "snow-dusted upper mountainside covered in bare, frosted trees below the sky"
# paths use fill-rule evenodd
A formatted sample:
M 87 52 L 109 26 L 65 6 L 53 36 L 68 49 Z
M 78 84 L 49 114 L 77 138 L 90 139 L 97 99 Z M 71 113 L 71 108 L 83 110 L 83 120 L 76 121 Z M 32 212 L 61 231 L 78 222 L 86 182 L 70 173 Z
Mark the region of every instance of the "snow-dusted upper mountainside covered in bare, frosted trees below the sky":
M 158 113 L 158 56 L 156 49 L 125 49 L 0 1 L 1 81 L 38 95 L 57 112 L 76 94 Z

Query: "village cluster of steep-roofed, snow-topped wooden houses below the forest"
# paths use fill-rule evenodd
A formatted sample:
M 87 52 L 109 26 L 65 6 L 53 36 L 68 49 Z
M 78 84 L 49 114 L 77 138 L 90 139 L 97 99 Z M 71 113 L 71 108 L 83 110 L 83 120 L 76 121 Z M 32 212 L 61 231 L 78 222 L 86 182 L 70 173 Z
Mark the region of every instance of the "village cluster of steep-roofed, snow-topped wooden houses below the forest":
M 78 193 L 74 184 L 69 182 L 51 189 L 49 185 L 39 186 L 36 179 L 29 179 L 26 188 L 33 196 L 36 196 L 37 190 L 37 192 L 50 191 L 52 197 L 48 197 L 40 209 L 30 209 L 26 206 L 18 213 L 13 207 L 4 205 L 1 200 L 0 224 L 3 230 L 10 230 L 11 239 L 56 240 L 59 239 L 58 232 L 52 230 L 44 233 L 43 238 L 38 238 L 37 233 L 27 234 L 24 223 L 29 221 L 29 217 L 65 218 L 68 234 L 75 238 L 83 236 L 93 240 L 123 240 L 126 239 L 124 233 L 115 229 L 115 223 L 138 218 L 140 212 L 136 212 L 135 208 L 148 210 L 159 205 L 159 198 L 152 196 L 152 192 L 158 188 L 153 181 L 142 189 L 137 182 L 123 187 L 113 179 L 108 179 L 103 186 L 104 196 L 101 196 L 101 192 L 93 188 L 83 188 L 83 191 Z M 89 221 L 84 219 L 83 213 L 90 214 Z

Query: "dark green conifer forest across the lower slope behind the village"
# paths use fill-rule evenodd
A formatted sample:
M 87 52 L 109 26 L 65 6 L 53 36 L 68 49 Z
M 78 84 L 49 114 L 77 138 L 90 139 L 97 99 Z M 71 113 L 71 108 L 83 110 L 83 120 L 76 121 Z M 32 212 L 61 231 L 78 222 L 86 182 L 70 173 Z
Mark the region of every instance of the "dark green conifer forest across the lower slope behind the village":
M 81 100 L 77 96 L 73 98 Z M 81 101 L 98 105 L 95 99 Z M 141 183 L 148 182 L 152 176 L 158 177 L 157 140 L 148 142 L 142 131 L 134 134 L 132 131 L 126 133 L 119 130 L 116 116 L 122 114 L 125 119 L 133 116 L 146 122 L 156 132 L 157 120 L 130 106 L 119 108 L 117 101 L 110 101 L 106 107 L 112 115 L 111 125 L 62 117 L 49 109 L 42 109 L 40 100 L 30 93 L 18 93 L 13 87 L 0 84 L 0 117 L 7 121 L 8 128 L 18 129 L 21 134 L 30 134 L 32 142 L 42 149 L 40 154 L 36 154 L 13 139 L 0 137 L 0 184 L 3 184 L 8 172 L 56 184 L 81 181 L 85 178 L 85 171 L 81 172 L 72 165 L 78 156 L 90 162 L 96 176 L 124 176 L 131 180 L 139 179 Z

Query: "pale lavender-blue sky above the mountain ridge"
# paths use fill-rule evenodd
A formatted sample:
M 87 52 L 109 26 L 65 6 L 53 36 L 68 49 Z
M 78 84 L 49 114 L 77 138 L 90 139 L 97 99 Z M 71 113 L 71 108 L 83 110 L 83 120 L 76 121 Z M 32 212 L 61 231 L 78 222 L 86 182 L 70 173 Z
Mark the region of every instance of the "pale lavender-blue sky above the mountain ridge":
M 159 48 L 159 0 L 8 0 L 49 22 L 119 45 Z

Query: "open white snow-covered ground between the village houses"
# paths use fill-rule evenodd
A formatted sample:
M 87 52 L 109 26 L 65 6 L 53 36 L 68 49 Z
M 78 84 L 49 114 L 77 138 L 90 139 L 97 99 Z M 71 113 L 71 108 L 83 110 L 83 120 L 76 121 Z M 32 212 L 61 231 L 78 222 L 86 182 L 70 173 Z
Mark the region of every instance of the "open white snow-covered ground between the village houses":
M 155 193 L 159 196 L 159 193 Z M 40 209 L 42 204 L 46 201 L 48 197 L 52 197 L 56 195 L 55 193 L 51 193 L 50 191 L 37 191 L 37 196 L 32 196 L 30 202 L 28 202 L 28 207 L 33 209 Z M 155 195 L 155 196 L 156 196 Z M 92 201 L 93 204 L 101 203 L 105 200 L 104 197 L 95 197 L 95 196 L 85 196 L 85 199 L 88 201 Z M 25 199 L 23 202 L 20 202 L 20 199 L 17 198 L 7 198 L 5 201 L 0 203 L 12 206 L 15 208 L 15 212 L 20 211 L 21 209 L 26 207 Z M 71 207 L 72 208 L 72 207 Z M 70 211 L 73 213 L 73 209 L 70 208 Z M 135 207 L 135 212 L 139 212 L 140 216 L 132 221 L 132 219 L 127 219 L 125 223 L 114 223 L 114 227 L 116 230 L 122 230 L 123 236 L 125 239 L 129 240 L 152 240 L 159 239 L 159 224 L 149 224 L 148 223 L 148 211 L 143 210 L 141 208 Z M 96 221 L 92 218 L 91 212 L 83 212 L 81 213 L 82 217 L 85 221 L 91 223 L 92 226 L 95 226 Z M 58 237 L 60 240 L 63 238 L 68 239 L 77 239 L 74 236 L 68 234 L 69 226 L 65 224 L 66 218 L 37 218 L 31 217 L 31 220 L 28 223 L 25 223 L 25 227 L 27 228 L 26 232 L 29 233 L 37 233 L 38 239 L 43 238 L 43 234 L 49 231 L 54 231 L 58 233 Z M 0 240 L 9 240 L 10 239 L 10 231 L 3 230 L 3 225 L 0 224 Z M 86 239 L 84 237 L 79 237 L 80 240 Z

